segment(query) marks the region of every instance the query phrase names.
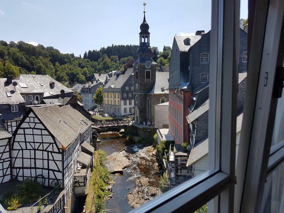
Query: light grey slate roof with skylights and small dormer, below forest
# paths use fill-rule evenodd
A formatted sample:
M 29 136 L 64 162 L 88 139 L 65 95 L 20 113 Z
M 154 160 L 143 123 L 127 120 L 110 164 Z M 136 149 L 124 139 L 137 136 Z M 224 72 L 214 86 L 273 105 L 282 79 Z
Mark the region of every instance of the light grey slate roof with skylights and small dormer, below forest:
M 35 76 L 35 77 L 33 77 Z M 63 84 L 54 80 L 48 75 L 31 75 L 31 74 L 20 74 L 14 81 L 18 82 L 16 90 L 20 93 L 43 93 L 43 97 L 60 94 L 60 90 L 64 90 L 65 93 L 73 92 L 71 89 L 65 87 Z M 19 82 L 25 83 L 28 88 L 22 88 L 19 85 Z M 54 83 L 54 87 L 50 86 L 50 82 Z M 43 83 L 41 86 L 39 83 Z

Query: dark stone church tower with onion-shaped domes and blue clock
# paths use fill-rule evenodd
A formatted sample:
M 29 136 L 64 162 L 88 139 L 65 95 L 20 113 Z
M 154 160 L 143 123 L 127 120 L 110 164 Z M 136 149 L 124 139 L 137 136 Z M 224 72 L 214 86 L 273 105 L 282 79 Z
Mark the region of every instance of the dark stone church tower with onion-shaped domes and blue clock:
M 146 22 L 145 11 L 144 19 L 140 25 L 139 47 L 136 50 L 137 60 L 133 64 L 134 70 L 134 113 L 135 122 L 142 124 L 144 121 L 151 120 L 147 117 L 146 93 L 153 87 L 156 81 L 156 65 L 153 61 L 153 50 L 150 47 L 149 25 Z

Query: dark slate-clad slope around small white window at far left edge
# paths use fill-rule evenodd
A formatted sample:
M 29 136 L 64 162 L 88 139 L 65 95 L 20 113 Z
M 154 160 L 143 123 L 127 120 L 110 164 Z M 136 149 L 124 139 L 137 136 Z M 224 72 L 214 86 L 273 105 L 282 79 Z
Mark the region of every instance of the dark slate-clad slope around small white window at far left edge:
M 26 108 L 24 104 L 18 105 L 18 112 L 11 112 L 11 107 L 7 105 L 0 105 L 0 117 L 4 120 L 20 120 L 26 114 Z

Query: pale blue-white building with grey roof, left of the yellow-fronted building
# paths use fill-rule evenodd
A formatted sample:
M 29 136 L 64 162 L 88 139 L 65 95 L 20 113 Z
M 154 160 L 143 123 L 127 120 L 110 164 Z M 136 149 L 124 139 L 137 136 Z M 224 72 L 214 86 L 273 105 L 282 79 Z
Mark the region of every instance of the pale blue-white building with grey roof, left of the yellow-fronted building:
M 87 110 L 91 107 L 99 107 L 99 104 L 95 103 L 93 96 L 95 96 L 97 88 L 104 86 L 103 82 L 97 81 L 93 83 L 86 83 L 81 88 L 81 95 L 83 95 L 84 109 Z

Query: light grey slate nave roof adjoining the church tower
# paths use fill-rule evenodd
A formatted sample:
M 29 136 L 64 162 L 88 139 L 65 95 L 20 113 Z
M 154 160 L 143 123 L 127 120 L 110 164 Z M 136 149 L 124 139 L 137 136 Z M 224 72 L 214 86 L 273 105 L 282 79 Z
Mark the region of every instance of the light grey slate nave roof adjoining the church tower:
M 156 72 L 156 81 L 152 87 L 148 90 L 147 94 L 163 94 L 169 93 L 167 90 L 169 88 L 169 72 Z M 161 87 L 164 87 L 162 91 Z

